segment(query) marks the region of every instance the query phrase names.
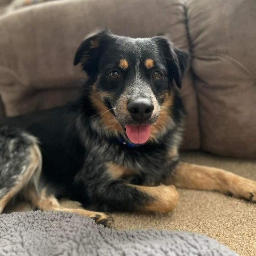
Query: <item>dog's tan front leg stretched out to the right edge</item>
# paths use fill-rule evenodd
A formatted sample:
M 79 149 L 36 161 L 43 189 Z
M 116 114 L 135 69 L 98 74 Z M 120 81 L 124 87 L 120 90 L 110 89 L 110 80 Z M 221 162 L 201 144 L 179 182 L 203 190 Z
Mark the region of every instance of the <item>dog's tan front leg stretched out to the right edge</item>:
M 180 162 L 163 183 L 179 188 L 220 191 L 256 202 L 256 181 L 218 168 Z

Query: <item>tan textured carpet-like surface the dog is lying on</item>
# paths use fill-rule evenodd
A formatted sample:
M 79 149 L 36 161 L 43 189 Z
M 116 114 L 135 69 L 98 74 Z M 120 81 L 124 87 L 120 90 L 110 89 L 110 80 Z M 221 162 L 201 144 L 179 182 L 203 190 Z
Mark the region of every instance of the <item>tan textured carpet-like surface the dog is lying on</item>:
M 186 153 L 183 161 L 226 169 L 256 180 L 256 161 Z M 256 204 L 215 192 L 179 189 L 180 202 L 170 214 L 115 213 L 115 228 L 186 230 L 217 239 L 241 256 L 256 255 Z M 67 204 L 66 204 L 67 205 Z M 29 205 L 15 205 L 7 212 L 30 210 Z

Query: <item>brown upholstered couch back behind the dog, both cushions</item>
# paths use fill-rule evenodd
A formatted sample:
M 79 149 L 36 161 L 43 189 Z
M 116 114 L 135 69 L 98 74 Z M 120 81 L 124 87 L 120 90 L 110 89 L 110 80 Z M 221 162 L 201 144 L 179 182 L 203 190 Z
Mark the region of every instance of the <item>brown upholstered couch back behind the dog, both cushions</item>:
M 184 149 L 256 156 L 253 0 L 73 0 L 0 18 L 0 95 L 7 116 L 62 105 L 81 91 L 73 56 L 95 29 L 165 35 L 191 53 L 181 89 Z M 1 115 L 1 107 L 0 107 Z

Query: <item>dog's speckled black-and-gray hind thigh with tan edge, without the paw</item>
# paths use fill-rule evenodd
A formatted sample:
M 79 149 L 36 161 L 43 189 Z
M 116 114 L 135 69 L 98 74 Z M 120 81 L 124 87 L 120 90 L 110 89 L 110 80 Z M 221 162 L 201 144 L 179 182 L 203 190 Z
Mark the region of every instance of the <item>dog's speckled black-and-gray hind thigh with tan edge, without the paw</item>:
M 10 127 L 0 127 L 0 213 L 41 174 L 42 157 L 35 137 Z

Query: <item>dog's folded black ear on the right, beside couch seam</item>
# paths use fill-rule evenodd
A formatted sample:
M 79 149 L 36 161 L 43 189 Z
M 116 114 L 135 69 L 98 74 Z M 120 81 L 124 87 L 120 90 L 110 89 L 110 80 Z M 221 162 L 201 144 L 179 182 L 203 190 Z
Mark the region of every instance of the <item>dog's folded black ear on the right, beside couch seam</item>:
M 174 47 L 165 37 L 153 38 L 161 51 L 163 51 L 168 66 L 169 79 L 174 79 L 176 85 L 181 88 L 182 78 L 185 74 L 189 54 Z

